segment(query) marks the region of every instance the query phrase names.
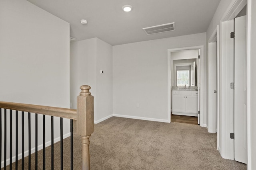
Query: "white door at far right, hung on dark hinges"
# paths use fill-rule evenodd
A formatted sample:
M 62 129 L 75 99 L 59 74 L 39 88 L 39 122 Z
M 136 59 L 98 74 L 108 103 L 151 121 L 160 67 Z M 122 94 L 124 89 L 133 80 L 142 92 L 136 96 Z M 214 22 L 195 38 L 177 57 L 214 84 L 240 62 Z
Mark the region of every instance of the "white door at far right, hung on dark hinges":
M 246 16 L 235 18 L 234 32 L 234 159 L 247 164 Z

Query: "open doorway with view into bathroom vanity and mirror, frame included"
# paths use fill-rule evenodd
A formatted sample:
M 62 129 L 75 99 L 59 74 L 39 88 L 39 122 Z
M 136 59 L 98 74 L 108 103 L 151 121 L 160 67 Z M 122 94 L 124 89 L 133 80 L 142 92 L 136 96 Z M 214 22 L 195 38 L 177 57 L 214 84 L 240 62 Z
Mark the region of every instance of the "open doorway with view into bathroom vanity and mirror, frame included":
M 204 115 L 200 115 L 204 108 L 203 93 L 200 94 L 204 91 L 202 58 L 203 46 L 168 50 L 168 116 L 171 121 L 204 126 Z

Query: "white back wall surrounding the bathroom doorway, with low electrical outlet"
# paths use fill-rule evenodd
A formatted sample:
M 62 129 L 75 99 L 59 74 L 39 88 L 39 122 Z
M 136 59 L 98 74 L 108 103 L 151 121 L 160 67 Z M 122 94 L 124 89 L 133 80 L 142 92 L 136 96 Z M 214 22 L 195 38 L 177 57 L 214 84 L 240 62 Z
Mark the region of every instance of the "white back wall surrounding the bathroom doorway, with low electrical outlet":
M 198 45 L 206 33 L 113 46 L 114 115 L 168 122 L 167 50 Z

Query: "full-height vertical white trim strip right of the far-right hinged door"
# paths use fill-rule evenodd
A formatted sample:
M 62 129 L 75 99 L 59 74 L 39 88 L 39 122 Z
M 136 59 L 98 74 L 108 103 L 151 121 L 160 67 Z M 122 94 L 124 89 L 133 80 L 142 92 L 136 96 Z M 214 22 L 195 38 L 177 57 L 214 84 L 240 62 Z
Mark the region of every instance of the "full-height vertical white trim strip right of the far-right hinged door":
M 247 0 L 247 170 L 252 170 L 252 143 L 251 143 L 251 15 L 252 15 L 252 0 Z

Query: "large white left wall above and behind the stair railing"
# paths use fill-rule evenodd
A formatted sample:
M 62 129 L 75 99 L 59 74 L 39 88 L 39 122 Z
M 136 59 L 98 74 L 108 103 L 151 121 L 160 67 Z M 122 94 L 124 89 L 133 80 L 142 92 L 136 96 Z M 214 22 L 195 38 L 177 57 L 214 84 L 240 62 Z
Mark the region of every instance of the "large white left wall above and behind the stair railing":
M 1 0 L 0 37 L 0 101 L 68 108 L 69 23 L 26 0 Z M 34 139 L 34 117 L 31 118 Z M 15 121 L 15 116 L 12 119 Z M 21 120 L 20 114 L 19 119 Z M 50 123 L 50 117 L 46 119 L 46 124 Z M 9 116 L 7 120 L 9 121 Z M 27 120 L 28 115 L 25 114 L 25 140 L 28 139 Z M 60 120 L 55 119 L 54 123 L 59 128 L 57 125 Z M 13 123 L 13 141 L 14 128 Z M 49 128 L 46 126 L 46 131 Z M 41 145 L 41 121 L 38 129 L 38 143 Z M 4 129 L 1 128 L 1 131 L 4 134 Z M 20 133 L 19 124 L 19 135 Z M 65 133 L 69 133 L 69 120 L 64 120 Z M 54 138 L 59 134 L 59 130 L 55 129 Z M 50 134 L 46 136 L 46 141 L 50 141 Z M 32 148 L 34 146 L 32 141 Z M 20 153 L 21 142 L 18 147 Z M 28 146 L 25 145 L 25 151 L 27 149 Z M 12 152 L 14 154 L 15 149 Z

